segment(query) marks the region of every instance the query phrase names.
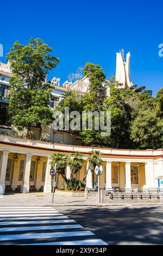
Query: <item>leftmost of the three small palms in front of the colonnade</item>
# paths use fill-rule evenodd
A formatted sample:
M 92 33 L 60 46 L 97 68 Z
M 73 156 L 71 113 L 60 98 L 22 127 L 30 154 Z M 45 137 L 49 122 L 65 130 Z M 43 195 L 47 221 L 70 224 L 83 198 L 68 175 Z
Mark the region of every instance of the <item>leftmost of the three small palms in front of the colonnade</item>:
M 67 184 L 67 178 L 65 174 L 65 168 L 67 166 L 67 155 L 63 153 L 54 153 L 52 155 L 51 166 L 54 168 L 55 163 L 57 163 L 57 174 L 61 174 L 62 178 Z

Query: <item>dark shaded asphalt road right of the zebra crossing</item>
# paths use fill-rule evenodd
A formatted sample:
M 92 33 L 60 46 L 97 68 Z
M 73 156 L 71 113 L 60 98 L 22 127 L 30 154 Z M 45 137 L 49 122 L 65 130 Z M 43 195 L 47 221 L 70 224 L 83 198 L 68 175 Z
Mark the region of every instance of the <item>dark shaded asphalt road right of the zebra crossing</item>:
M 109 245 L 162 245 L 163 205 L 57 206 Z

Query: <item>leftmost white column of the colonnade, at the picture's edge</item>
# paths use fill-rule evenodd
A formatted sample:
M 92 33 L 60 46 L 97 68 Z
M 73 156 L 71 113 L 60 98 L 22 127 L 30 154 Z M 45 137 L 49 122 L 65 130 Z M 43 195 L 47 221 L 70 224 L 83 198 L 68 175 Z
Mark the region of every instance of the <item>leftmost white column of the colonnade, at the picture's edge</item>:
M 5 192 L 5 174 L 8 164 L 8 151 L 3 151 L 0 160 L 0 194 Z

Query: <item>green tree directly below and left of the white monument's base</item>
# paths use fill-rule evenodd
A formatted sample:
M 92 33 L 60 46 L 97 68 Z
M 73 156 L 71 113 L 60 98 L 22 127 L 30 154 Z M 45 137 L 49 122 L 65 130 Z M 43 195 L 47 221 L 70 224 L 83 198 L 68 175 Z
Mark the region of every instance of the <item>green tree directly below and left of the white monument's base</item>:
M 104 102 L 104 108 L 111 113 L 111 135 L 105 138 L 105 145 L 111 148 L 130 148 L 131 108 L 123 97 L 115 77 L 108 82 L 110 97 Z

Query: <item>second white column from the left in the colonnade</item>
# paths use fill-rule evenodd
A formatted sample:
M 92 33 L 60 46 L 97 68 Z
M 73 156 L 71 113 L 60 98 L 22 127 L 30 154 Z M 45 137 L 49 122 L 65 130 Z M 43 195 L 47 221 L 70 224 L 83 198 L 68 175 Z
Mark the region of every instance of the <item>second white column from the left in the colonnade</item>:
M 24 160 L 23 180 L 21 185 L 21 193 L 29 193 L 29 176 L 32 155 L 27 154 Z

